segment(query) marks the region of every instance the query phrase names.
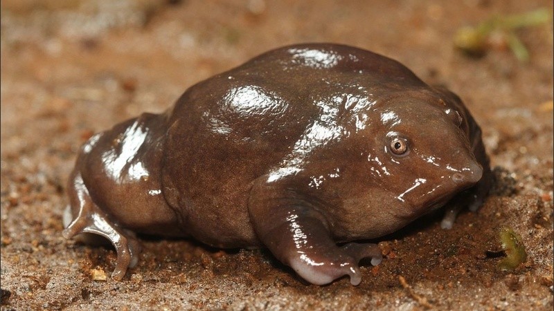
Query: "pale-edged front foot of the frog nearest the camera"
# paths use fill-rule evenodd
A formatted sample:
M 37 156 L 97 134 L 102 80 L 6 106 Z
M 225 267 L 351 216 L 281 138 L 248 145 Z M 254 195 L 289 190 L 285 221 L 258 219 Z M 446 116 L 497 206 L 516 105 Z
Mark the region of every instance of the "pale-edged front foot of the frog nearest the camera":
M 371 258 L 372 265 L 382 261 L 381 249 L 376 244 L 348 243 L 337 249 L 333 254 L 300 254 L 289 259 L 291 267 L 306 281 L 324 285 L 341 276 L 350 276 L 350 283 L 358 285 L 361 282 L 361 272 L 358 263 L 363 258 Z

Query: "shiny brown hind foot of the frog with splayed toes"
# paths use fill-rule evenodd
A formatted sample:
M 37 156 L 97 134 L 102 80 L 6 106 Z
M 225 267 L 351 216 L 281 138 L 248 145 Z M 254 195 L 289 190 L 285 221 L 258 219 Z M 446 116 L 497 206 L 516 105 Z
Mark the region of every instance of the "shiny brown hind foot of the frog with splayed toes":
M 109 216 L 96 205 L 84 185 L 80 173 L 73 173 L 69 183 L 68 194 L 73 213 L 78 209 L 77 216 L 62 232 L 64 238 L 72 238 L 77 234 L 98 234 L 107 238 L 114 245 L 117 252 L 117 263 L 111 277 L 117 281 L 123 279 L 127 267 L 134 267 L 139 261 L 141 245 L 134 233 L 122 229 L 109 220 Z M 68 209 L 71 209 L 68 206 Z M 66 211 L 71 213 L 71 210 Z M 64 215 L 64 222 L 69 217 Z M 64 224 L 66 225 L 66 224 Z

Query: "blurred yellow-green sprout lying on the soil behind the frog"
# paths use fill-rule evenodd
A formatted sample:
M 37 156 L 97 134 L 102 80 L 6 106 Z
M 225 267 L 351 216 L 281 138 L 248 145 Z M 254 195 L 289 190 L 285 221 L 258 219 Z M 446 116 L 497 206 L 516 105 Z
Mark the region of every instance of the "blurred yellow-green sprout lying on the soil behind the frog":
M 551 19 L 552 11 L 547 8 L 518 15 L 495 15 L 477 26 L 459 29 L 454 37 L 454 45 L 469 55 L 483 55 L 490 46 L 490 39 L 500 35 L 519 61 L 528 62 L 529 52 L 515 30 L 539 26 Z

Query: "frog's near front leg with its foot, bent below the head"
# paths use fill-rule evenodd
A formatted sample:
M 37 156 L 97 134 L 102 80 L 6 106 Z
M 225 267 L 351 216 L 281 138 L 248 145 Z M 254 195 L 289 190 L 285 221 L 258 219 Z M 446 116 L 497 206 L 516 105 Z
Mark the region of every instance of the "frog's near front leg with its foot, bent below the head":
M 359 261 L 370 257 L 371 264 L 377 265 L 382 260 L 375 244 L 337 246 L 323 214 L 291 191 L 255 185 L 249 213 L 260 241 L 310 283 L 323 285 L 348 275 L 350 283 L 358 285 Z

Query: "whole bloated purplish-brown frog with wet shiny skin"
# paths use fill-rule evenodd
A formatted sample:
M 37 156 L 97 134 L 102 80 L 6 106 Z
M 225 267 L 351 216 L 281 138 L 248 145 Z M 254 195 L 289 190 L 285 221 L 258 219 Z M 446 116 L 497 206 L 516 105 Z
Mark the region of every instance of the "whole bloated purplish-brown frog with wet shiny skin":
M 453 93 L 349 46 L 260 55 L 189 88 L 166 113 L 94 135 L 69 181 L 64 236 L 139 259 L 134 232 L 267 247 L 314 284 L 350 276 L 389 234 L 451 200 L 443 227 L 490 186 L 481 131 Z M 337 243 L 346 243 L 338 246 Z

